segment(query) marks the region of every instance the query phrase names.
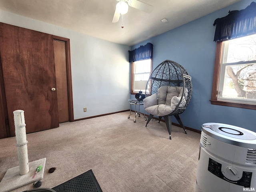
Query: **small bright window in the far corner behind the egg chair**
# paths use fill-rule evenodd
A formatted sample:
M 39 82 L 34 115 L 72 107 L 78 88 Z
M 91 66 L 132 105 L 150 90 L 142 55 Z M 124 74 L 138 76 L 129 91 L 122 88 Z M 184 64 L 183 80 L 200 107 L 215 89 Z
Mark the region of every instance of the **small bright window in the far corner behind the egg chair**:
M 141 91 L 145 93 L 145 84 L 152 72 L 152 59 L 132 62 L 131 71 L 131 94 L 138 93 L 141 86 L 144 87 Z

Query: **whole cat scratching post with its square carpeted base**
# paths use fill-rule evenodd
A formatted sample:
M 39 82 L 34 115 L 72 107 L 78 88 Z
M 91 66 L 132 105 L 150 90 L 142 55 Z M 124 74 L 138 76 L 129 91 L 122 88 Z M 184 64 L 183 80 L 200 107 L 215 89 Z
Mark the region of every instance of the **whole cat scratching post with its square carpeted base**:
M 28 141 L 26 140 L 24 111 L 15 110 L 13 114 L 19 166 L 10 168 L 6 171 L 4 178 L 0 182 L 0 192 L 14 190 L 32 182 L 39 181 L 44 177 L 46 158 L 30 163 L 28 162 Z M 35 174 L 38 166 L 42 166 L 42 169 Z

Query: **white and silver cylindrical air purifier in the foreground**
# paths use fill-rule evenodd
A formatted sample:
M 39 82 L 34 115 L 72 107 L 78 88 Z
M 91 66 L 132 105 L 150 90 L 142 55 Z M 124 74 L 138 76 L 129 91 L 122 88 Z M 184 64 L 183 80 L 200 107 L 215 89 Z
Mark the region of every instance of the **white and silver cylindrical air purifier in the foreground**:
M 227 124 L 203 124 L 195 191 L 256 191 L 256 133 Z

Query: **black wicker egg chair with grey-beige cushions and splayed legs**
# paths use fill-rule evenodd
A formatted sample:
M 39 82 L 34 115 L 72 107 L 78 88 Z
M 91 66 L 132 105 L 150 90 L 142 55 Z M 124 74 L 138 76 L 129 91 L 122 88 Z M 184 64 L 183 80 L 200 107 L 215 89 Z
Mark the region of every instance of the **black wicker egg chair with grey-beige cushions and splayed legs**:
M 192 95 L 192 82 L 187 70 L 180 64 L 165 60 L 150 74 L 146 85 L 144 109 L 149 113 L 146 126 L 153 116 L 165 120 L 170 139 L 172 130 L 172 116 L 180 126 L 186 129 L 180 118 L 188 106 Z

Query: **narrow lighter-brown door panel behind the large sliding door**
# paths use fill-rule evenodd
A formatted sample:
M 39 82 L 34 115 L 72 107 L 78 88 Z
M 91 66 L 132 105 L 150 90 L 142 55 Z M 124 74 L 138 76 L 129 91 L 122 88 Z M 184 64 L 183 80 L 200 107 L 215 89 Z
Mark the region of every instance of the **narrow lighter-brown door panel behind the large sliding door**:
M 54 40 L 54 61 L 56 74 L 56 88 L 58 97 L 59 123 L 69 121 L 68 110 L 68 80 L 66 67 L 66 44 Z

